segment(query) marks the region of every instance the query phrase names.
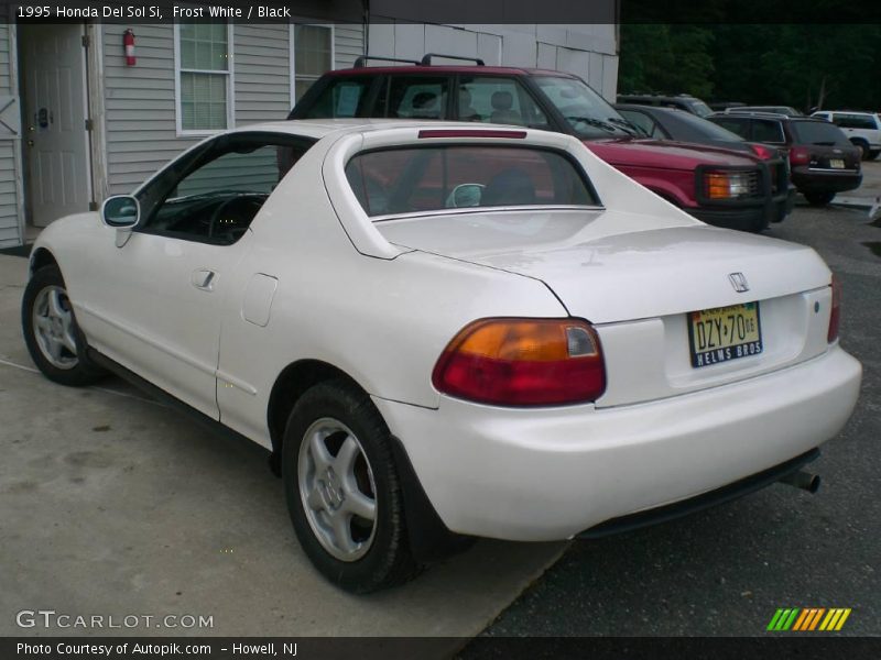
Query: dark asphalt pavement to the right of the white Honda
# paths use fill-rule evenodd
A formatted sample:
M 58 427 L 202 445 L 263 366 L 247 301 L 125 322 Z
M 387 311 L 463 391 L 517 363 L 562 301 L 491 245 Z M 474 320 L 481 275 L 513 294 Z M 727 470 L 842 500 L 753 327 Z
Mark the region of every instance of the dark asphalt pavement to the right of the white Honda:
M 868 197 L 881 162 L 864 172 Z M 483 636 L 757 636 L 780 607 L 849 607 L 840 635 L 881 635 L 881 220 L 801 200 L 766 235 L 811 245 L 841 278 L 841 345 L 864 370 L 856 413 L 811 465 L 819 492 L 774 484 L 576 541 Z

